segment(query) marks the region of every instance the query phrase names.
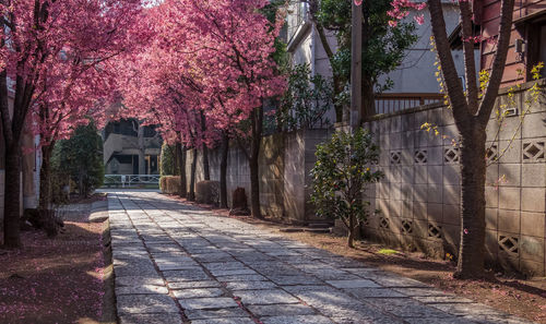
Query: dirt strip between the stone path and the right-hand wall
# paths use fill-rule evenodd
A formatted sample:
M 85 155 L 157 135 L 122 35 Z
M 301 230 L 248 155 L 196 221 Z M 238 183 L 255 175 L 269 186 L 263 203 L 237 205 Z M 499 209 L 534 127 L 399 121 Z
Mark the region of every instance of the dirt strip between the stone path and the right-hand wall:
M 173 197 L 185 201 L 176 196 Z M 214 209 L 225 217 L 238 218 L 262 228 L 278 230 L 289 227 L 273 219 L 257 220 L 248 216 L 229 216 L 227 209 L 212 208 L 210 205 L 202 204 L 199 206 Z M 492 278 L 488 280 L 459 280 L 452 276 L 455 269 L 452 262 L 427 259 L 423 253 L 406 253 L 365 241 L 360 241 L 356 249 L 348 249 L 345 237 L 331 233 L 281 231 L 280 233 L 312 247 L 358 260 L 367 266 L 417 279 L 446 292 L 466 297 L 500 311 L 546 324 L 545 278 L 521 280 L 501 274 L 491 274 Z

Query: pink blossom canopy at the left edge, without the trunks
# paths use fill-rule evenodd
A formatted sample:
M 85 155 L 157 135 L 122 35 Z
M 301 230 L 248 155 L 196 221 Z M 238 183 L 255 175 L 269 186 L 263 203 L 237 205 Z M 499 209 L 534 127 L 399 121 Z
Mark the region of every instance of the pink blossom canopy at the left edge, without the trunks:
M 0 68 L 14 83 L 15 100 L 29 100 L 43 145 L 70 136 L 90 118 L 104 123 L 117 88 L 111 59 L 142 41 L 141 11 L 140 0 L 0 2 Z

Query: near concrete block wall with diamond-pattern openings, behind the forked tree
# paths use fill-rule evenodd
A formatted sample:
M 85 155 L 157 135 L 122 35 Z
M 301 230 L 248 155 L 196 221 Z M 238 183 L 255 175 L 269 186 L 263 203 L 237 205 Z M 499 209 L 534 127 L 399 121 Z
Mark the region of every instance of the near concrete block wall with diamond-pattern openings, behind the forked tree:
M 500 131 L 496 119 L 487 128 L 490 156 L 499 159 L 487 168 L 486 251 L 488 261 L 505 268 L 544 276 L 546 105 L 533 105 L 519 128 L 526 98 L 524 92 L 515 94 L 520 116 L 508 117 Z M 506 103 L 505 94 L 497 107 Z M 424 122 L 437 124 L 440 134 L 420 130 Z M 461 177 L 459 148 L 451 143 L 459 136 L 451 110 L 420 107 L 367 127 L 378 135 L 378 168 L 385 178 L 368 192 L 372 207 L 382 213 L 370 217 L 366 235 L 438 256 L 455 253 Z

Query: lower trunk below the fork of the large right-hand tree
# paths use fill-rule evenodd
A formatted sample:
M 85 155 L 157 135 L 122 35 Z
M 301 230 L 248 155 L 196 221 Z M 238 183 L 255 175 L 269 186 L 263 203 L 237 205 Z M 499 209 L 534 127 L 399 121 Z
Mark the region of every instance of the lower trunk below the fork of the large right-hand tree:
M 454 276 L 484 276 L 485 244 L 485 130 L 477 124 L 463 134 L 461 147 L 461 248 Z

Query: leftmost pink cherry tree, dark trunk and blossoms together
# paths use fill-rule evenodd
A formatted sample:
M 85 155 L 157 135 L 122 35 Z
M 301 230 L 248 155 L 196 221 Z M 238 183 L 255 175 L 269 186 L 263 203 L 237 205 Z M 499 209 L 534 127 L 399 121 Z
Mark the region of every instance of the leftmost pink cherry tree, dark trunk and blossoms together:
M 139 8 L 139 0 L 0 1 L 2 16 L 0 115 L 5 143 L 5 183 L 9 183 L 4 196 L 7 247 L 21 244 L 19 232 L 21 139 L 28 116 L 34 109 L 37 109 L 39 116 L 41 109 L 41 116 L 57 116 L 58 119 L 58 115 L 54 111 L 75 107 L 78 99 L 70 94 L 84 91 L 75 86 L 76 74 L 69 73 L 68 76 L 60 73 L 74 70 L 63 69 L 59 64 L 63 64 L 64 60 L 73 62 L 74 59 L 80 59 L 84 65 L 88 65 L 90 62 L 106 58 L 108 50 L 103 50 L 120 41 L 115 35 L 119 32 L 117 28 L 124 26 L 119 22 L 134 14 Z M 64 80 L 67 76 L 69 79 Z M 69 85 L 70 83 L 74 85 Z M 14 94 L 12 108 L 8 103 L 9 92 Z M 69 103 L 70 99 L 74 99 L 74 103 Z M 61 115 L 70 116 L 70 113 Z M 66 133 L 62 130 L 67 129 L 66 125 L 79 122 L 81 118 L 66 118 L 63 122 L 59 121 L 60 129 L 57 135 L 62 136 Z M 41 129 L 46 137 L 51 135 L 50 130 L 46 130 L 43 125 Z M 51 137 L 57 135 L 54 132 Z

